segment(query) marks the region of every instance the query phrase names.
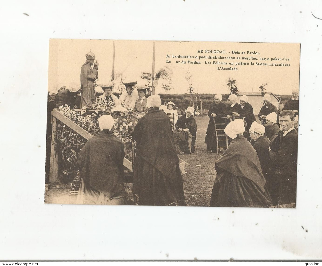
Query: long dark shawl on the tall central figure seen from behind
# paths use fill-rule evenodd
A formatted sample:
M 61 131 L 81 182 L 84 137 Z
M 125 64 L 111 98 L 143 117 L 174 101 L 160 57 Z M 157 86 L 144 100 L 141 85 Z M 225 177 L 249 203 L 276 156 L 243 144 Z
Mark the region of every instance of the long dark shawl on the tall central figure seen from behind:
M 159 109 L 150 109 L 132 132 L 137 142 L 137 156 L 154 166 L 165 176 L 172 176 L 179 159 L 169 117 Z

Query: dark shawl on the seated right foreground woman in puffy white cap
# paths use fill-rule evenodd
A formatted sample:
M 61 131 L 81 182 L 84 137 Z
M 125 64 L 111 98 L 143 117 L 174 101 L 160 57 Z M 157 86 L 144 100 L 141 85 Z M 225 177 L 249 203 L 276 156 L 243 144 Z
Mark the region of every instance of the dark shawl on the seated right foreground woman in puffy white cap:
M 224 170 L 234 176 L 250 179 L 262 192 L 265 192 L 266 181 L 260 161 L 255 149 L 244 136 L 237 136 L 232 140 L 223 156 L 216 161 L 215 170 L 218 173 L 218 178 L 221 176 L 221 170 Z

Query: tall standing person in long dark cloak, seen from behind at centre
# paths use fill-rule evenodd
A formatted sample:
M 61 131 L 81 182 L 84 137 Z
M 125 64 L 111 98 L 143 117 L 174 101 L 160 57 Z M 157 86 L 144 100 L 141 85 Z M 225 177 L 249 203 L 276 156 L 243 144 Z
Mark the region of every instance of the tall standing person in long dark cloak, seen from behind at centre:
M 148 98 L 151 106 L 135 126 L 133 195 L 138 205 L 184 206 L 179 158 L 169 117 L 159 109 L 161 98 Z

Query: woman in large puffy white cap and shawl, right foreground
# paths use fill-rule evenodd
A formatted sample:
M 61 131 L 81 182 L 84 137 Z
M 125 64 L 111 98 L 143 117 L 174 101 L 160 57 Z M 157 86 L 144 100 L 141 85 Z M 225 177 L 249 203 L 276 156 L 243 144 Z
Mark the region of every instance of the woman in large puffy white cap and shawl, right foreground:
M 225 128 L 232 139 L 223 156 L 216 161 L 210 206 L 270 207 L 272 200 L 266 190 L 260 161 L 255 149 L 243 137 L 242 119 L 235 119 Z

